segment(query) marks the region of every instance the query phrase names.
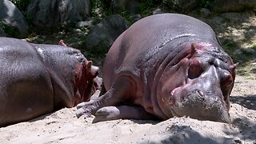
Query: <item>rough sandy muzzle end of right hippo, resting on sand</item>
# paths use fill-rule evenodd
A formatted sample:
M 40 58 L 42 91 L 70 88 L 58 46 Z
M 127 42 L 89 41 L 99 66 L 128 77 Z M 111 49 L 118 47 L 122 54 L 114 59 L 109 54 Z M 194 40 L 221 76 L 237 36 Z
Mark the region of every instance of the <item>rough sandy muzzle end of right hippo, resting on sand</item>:
M 172 96 L 175 96 L 180 89 L 182 88 L 178 87 L 172 90 Z M 221 98 L 206 96 L 199 90 L 194 90 L 190 95 L 186 95 L 186 98 L 184 97 L 182 95 L 178 97 L 182 100 L 177 101 L 176 99 L 175 103 L 171 102 L 170 111 L 173 116 L 230 123 L 228 110 Z M 172 97 L 170 101 L 173 101 Z

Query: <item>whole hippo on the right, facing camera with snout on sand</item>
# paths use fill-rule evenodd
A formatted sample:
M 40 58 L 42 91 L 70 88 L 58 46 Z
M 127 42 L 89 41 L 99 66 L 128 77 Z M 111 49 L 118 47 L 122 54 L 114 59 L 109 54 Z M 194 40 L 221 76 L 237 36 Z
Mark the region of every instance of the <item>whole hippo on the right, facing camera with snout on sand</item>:
M 103 67 L 106 94 L 78 104 L 76 114 L 94 114 L 94 122 L 189 116 L 229 123 L 235 67 L 206 23 L 153 15 L 117 38 Z

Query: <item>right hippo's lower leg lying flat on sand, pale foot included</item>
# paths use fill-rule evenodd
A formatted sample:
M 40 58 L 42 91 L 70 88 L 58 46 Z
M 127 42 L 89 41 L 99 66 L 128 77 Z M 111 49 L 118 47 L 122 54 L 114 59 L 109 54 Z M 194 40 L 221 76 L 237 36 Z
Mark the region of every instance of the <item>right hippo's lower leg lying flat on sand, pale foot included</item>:
M 142 106 L 106 106 L 97 110 L 93 122 L 116 119 L 158 119 L 144 110 Z

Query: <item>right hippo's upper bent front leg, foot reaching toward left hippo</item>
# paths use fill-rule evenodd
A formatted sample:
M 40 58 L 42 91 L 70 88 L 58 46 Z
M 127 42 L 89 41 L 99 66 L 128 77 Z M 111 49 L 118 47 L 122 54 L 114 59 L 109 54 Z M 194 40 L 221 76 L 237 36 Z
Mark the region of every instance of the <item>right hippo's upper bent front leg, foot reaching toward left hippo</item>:
M 132 91 L 134 91 L 134 81 L 128 76 L 118 77 L 110 90 L 98 97 L 94 101 L 82 102 L 78 104 L 76 115 L 79 118 L 84 114 L 89 117 L 90 114 L 95 114 L 97 110 L 105 106 L 116 106 L 119 103 L 126 102 Z

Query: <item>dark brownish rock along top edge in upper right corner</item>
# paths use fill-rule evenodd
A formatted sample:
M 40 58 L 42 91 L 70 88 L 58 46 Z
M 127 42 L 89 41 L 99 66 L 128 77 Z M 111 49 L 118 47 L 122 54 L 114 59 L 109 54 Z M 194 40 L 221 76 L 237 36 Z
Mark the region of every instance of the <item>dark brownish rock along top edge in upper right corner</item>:
M 256 8 L 255 0 L 215 0 L 213 10 L 216 12 L 239 12 Z

